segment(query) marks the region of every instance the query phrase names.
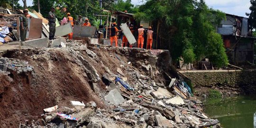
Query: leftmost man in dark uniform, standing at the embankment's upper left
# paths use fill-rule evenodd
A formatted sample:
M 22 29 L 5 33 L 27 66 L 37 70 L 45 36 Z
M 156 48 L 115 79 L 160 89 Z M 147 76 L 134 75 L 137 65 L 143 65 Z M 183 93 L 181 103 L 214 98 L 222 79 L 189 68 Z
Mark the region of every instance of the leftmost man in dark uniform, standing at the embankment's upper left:
M 23 15 L 19 16 L 19 37 L 20 40 L 22 42 L 24 42 L 26 40 L 26 36 L 27 36 L 27 14 L 28 11 L 27 10 L 23 10 Z

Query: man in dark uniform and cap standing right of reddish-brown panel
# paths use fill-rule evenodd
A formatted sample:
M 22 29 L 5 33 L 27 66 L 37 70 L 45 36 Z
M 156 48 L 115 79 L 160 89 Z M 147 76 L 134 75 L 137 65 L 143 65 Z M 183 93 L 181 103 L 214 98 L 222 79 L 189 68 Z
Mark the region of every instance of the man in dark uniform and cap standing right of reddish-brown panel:
M 48 16 L 48 19 L 49 19 L 49 29 L 50 29 L 50 32 L 49 32 L 49 39 L 54 39 L 55 37 L 55 31 L 56 31 L 56 17 L 55 17 L 55 8 L 52 7 L 51 8 L 51 11 L 49 12 L 49 16 Z

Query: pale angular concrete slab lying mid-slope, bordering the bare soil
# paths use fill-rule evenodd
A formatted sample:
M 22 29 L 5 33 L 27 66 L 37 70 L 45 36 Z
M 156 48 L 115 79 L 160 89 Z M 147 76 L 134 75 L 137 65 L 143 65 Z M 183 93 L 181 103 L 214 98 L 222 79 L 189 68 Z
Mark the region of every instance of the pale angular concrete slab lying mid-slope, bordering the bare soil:
M 113 89 L 109 92 L 108 95 L 104 97 L 110 103 L 118 105 L 119 103 L 123 103 L 125 100 L 117 89 Z

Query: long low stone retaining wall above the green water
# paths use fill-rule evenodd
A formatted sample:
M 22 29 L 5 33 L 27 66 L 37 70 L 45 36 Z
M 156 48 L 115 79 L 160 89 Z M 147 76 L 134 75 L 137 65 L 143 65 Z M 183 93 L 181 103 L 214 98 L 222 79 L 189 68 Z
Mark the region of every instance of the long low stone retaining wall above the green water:
M 256 88 L 256 69 L 179 71 L 189 77 L 193 86 L 222 86 Z M 254 89 L 255 90 L 255 89 Z

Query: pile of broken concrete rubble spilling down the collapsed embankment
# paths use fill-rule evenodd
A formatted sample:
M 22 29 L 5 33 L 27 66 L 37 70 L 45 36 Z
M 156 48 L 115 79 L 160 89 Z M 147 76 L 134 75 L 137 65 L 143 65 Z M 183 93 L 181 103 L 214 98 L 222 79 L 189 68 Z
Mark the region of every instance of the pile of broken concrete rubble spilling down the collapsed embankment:
M 70 101 L 69 106 L 56 104 L 44 109 L 44 114 L 37 120 L 21 122 L 20 128 L 219 128 L 217 119 L 203 114 L 202 102 L 192 97 L 186 84 L 170 78 L 171 83 L 165 86 L 161 78 L 164 68 L 157 66 L 162 60 L 159 58 L 161 53 L 137 48 L 87 48 L 76 43 L 43 48 L 29 57 L 34 61 L 50 60 L 52 53 L 49 51 L 71 53 L 75 59 L 73 63 L 81 65 L 105 107 L 99 107 L 94 101 Z M 137 57 L 133 58 L 134 51 Z M 33 71 L 26 61 L 3 59 L 9 70 L 17 73 Z M 119 66 L 111 67 L 105 63 L 110 60 Z M 98 63 L 98 67 L 91 61 Z M 99 82 L 105 84 L 105 91 L 97 92 L 95 87 Z

